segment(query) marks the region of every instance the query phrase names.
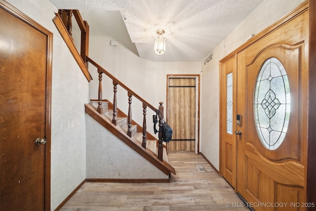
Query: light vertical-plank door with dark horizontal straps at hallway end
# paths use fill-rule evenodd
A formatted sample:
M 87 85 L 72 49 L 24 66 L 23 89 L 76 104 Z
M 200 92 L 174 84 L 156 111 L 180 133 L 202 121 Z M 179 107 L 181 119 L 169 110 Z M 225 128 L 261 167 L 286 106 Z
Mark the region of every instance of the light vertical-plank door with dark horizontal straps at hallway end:
M 173 129 L 168 151 L 195 151 L 196 78 L 168 79 L 168 125 Z

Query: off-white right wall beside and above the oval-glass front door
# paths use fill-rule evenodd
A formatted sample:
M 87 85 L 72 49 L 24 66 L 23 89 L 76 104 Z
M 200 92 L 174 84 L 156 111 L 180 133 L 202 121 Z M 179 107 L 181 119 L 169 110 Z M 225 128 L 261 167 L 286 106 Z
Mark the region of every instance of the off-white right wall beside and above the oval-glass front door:
M 216 169 L 219 170 L 219 61 L 246 42 L 251 34 L 258 34 L 302 1 L 264 0 L 213 50 L 213 59 L 203 66 L 200 149 Z

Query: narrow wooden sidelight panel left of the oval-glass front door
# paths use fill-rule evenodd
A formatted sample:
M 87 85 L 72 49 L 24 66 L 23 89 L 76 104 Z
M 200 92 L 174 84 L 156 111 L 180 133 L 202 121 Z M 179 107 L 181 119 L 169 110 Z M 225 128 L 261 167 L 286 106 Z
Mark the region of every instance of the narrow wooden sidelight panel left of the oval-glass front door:
M 236 188 L 236 56 L 221 64 L 221 174 Z

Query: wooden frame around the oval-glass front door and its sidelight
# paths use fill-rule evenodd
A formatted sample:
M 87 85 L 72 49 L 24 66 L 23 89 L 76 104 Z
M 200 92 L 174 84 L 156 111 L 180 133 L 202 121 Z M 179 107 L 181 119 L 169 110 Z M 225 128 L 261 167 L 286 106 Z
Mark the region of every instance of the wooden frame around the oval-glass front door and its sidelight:
M 243 43 L 233 52 L 225 56 L 221 61 L 225 61 L 226 59 L 230 58 L 237 52 L 241 51 L 242 49 L 246 48 L 251 42 L 256 42 L 260 40 L 265 34 L 269 31 L 273 31 L 274 29 L 278 28 L 279 26 L 286 23 L 289 19 L 293 18 L 294 16 L 298 15 L 302 10 L 308 9 L 309 10 L 309 46 L 316 46 L 316 1 L 315 0 L 305 0 L 301 4 L 299 4 L 296 8 L 290 11 L 288 14 L 280 18 L 278 21 L 264 29 L 262 32 L 258 33 L 255 37 L 249 39 L 247 42 Z M 316 125 L 316 60 L 312 58 L 316 58 L 316 48 L 309 47 L 308 52 L 308 125 L 314 126 Z M 221 78 L 220 78 L 221 80 Z M 316 130 L 314 127 L 308 127 L 307 132 L 307 202 L 308 203 L 316 203 Z M 221 141 L 221 140 L 220 140 Z M 221 150 L 221 149 L 220 149 Z M 221 151 L 220 151 L 221 153 Z M 221 168 L 221 157 L 220 157 L 220 168 Z M 311 211 L 316 211 L 315 208 L 309 208 Z

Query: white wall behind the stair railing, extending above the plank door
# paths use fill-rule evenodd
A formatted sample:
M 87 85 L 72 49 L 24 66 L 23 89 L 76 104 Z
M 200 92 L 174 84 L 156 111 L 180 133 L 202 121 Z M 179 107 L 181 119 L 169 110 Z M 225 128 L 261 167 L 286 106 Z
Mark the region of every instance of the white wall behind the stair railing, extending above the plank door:
M 90 35 L 89 40 L 89 57 L 156 108 L 160 101 L 164 102 L 164 106 L 166 103 L 167 74 L 200 74 L 200 62 L 153 62 L 139 58 L 120 43 L 118 46 L 111 46 L 110 41 L 113 38 Z M 94 79 L 90 83 L 90 98 L 97 99 L 98 74 L 96 69 L 92 71 L 91 67 L 89 64 L 89 71 Z M 102 82 L 103 99 L 112 102 L 112 81 L 103 76 Z M 118 108 L 127 114 L 127 92 L 118 87 L 117 95 Z M 151 134 L 154 134 L 153 114 L 155 113 L 151 109 L 147 109 L 147 130 Z M 142 126 L 142 104 L 135 97 L 132 98 L 132 119 Z

